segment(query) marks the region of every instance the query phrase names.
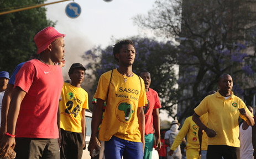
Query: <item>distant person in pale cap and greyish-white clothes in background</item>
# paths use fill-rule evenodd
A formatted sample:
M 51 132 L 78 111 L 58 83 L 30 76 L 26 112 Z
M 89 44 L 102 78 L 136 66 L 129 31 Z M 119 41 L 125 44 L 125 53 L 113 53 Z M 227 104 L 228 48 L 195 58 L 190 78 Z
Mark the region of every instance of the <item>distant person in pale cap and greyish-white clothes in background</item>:
M 179 129 L 180 123 L 178 122 L 178 120 L 173 120 L 171 122 L 171 128 L 170 130 L 166 131 L 164 139 L 165 139 L 165 144 L 168 145 L 167 147 L 167 153 L 170 151 L 171 145 L 173 145 L 174 139 L 176 138 L 177 134 L 179 133 L 180 130 Z M 183 139 L 183 142 L 186 143 L 185 138 Z M 173 156 L 168 156 L 167 158 L 181 158 L 182 154 L 181 154 L 181 149 L 180 149 L 180 145 L 177 146 L 177 149 L 174 151 Z

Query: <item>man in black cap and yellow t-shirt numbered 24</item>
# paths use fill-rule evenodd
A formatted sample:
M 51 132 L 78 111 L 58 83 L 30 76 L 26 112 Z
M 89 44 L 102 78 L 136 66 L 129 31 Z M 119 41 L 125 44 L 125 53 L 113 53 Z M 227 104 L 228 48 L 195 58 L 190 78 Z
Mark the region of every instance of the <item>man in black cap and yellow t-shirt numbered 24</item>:
M 88 109 L 88 94 L 81 84 L 85 79 L 85 67 L 73 63 L 69 69 L 71 83 L 64 83 L 60 107 L 61 147 L 60 158 L 79 159 L 85 147 L 85 109 Z

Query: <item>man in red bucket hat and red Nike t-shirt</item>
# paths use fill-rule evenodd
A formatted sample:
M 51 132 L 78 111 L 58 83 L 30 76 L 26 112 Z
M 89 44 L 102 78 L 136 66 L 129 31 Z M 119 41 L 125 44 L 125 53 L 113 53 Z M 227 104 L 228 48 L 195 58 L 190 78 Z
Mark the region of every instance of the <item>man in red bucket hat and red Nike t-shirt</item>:
M 59 158 L 58 103 L 63 86 L 59 63 L 64 34 L 47 27 L 35 35 L 38 59 L 25 62 L 16 75 L 0 150 L 15 146 L 16 158 Z M 15 139 L 14 139 L 15 137 Z

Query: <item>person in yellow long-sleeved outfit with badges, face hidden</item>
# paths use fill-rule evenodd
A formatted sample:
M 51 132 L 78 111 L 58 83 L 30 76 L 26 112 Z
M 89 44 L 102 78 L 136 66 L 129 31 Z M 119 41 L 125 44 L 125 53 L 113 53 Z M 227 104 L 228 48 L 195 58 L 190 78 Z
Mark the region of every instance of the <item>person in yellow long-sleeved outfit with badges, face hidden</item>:
M 168 155 L 172 156 L 174 151 L 180 145 L 181 141 L 187 135 L 187 146 L 186 146 L 186 157 L 187 159 L 198 159 L 199 156 L 199 141 L 198 141 L 198 127 L 195 122 L 192 120 L 192 116 L 185 119 L 184 124 L 182 125 L 180 132 L 177 134 L 171 149 L 168 152 Z

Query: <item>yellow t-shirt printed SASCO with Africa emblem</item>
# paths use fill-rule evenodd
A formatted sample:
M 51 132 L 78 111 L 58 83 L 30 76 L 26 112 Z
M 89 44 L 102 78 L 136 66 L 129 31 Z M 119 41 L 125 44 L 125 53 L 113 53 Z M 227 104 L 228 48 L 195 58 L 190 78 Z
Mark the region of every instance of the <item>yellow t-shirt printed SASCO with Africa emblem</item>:
M 106 101 L 111 72 L 101 75 L 95 98 Z M 114 69 L 99 139 L 108 141 L 114 135 L 120 139 L 141 142 L 137 109 L 147 103 L 144 81 L 134 73 L 127 78 Z

